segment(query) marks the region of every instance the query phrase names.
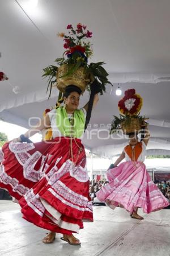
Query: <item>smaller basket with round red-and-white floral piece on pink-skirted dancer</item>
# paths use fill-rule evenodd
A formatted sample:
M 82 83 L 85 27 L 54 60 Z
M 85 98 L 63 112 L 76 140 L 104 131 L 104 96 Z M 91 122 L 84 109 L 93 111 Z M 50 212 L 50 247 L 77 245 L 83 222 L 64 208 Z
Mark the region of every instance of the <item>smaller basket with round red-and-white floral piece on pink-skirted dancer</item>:
M 125 96 L 118 102 L 120 117 L 114 115 L 112 121 L 111 133 L 122 130 L 124 134 L 138 133 L 143 127 L 146 127 L 145 116 L 140 115 L 143 100 L 135 93 L 135 89 L 125 91 Z

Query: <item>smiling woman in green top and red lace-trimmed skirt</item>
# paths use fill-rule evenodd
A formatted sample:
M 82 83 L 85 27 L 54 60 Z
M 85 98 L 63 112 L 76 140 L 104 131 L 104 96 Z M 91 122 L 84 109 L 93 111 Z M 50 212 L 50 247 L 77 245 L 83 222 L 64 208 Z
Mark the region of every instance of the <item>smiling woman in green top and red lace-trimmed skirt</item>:
M 83 228 L 83 221 L 93 221 L 81 143 L 88 104 L 78 110 L 80 93 L 78 87 L 67 86 L 63 107 L 51 110 L 39 126 L 0 151 L 0 187 L 19 201 L 25 220 L 50 230 L 44 243 L 52 243 L 56 233 L 62 233 L 62 240 L 80 245 L 73 233 Z M 95 94 L 93 106 L 98 100 Z M 47 127 L 52 127 L 52 141 L 20 143 Z

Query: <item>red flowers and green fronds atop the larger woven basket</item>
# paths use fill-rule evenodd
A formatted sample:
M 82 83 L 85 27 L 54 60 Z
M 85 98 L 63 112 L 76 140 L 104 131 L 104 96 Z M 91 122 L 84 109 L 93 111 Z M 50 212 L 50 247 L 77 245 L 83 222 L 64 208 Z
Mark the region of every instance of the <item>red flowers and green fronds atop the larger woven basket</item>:
M 71 77 L 73 73 L 80 69 L 84 77 L 86 76 L 86 79 L 84 79 L 87 81 L 86 89 L 90 91 L 90 84 L 96 80 L 100 94 L 103 94 L 105 92 L 105 85 L 112 85 L 112 83 L 107 78 L 108 73 L 103 68 L 105 64 L 103 61 L 88 64 L 88 58 L 92 56 L 92 44 L 87 39 L 92 37 L 92 32 L 87 30 L 87 26 L 81 23 L 78 23 L 75 28 L 73 28 L 72 24 L 68 24 L 66 28 L 67 34 L 63 32 L 58 33 L 58 36 L 63 38 L 63 47 L 65 48 L 62 57 L 55 60 L 59 67 L 49 65 L 43 69 L 44 74 L 42 77 L 48 77 L 47 90 L 51 93 L 52 86 L 57 82 L 58 68 L 65 65 L 67 72 L 59 78 Z

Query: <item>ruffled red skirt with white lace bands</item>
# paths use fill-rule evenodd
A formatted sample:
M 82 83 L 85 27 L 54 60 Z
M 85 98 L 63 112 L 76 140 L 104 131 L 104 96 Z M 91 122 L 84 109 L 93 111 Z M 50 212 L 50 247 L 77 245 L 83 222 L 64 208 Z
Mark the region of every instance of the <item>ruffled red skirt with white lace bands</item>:
M 6 143 L 0 152 L 0 187 L 19 200 L 25 220 L 62 234 L 93 221 L 86 154 L 80 139 Z

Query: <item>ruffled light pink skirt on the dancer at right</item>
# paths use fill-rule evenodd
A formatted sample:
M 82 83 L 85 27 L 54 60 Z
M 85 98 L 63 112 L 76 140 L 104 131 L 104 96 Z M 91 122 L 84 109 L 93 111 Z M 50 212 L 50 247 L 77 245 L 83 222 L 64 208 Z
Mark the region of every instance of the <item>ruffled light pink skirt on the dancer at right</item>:
M 169 205 L 168 200 L 151 180 L 142 162 L 124 162 L 107 171 L 109 183 L 96 193 L 109 207 L 124 207 L 130 213 L 136 208 L 150 213 Z

